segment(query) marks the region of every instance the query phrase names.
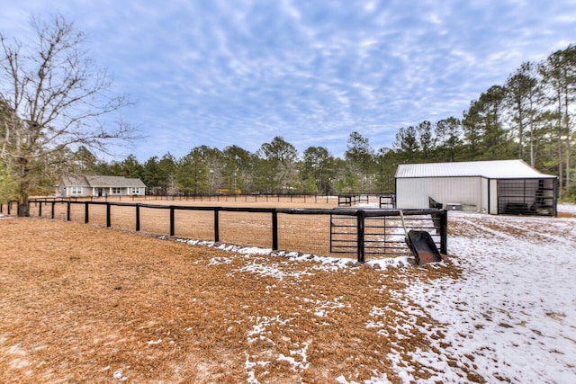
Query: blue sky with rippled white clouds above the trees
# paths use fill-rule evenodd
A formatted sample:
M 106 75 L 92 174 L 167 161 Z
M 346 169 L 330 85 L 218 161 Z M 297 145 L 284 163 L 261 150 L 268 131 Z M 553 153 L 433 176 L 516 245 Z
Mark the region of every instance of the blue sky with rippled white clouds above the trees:
M 401 127 L 462 117 L 522 62 L 576 42 L 576 1 L 0 0 L 21 40 L 58 12 L 135 102 L 141 162 L 193 147 L 374 149 Z

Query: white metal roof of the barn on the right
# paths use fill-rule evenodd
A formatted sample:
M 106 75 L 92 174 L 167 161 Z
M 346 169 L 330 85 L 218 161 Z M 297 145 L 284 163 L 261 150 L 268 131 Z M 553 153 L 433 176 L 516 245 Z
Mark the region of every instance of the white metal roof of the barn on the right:
M 523 160 L 468 161 L 398 165 L 396 178 L 417 177 L 485 177 L 489 179 L 547 179 Z

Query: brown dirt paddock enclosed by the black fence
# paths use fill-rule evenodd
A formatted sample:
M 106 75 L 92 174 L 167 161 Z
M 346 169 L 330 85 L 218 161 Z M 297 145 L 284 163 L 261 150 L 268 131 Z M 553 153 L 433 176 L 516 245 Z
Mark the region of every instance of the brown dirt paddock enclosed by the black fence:
M 378 198 L 373 196 L 372 199 L 366 200 L 361 207 L 377 208 Z M 362 227 L 366 229 L 362 232 L 364 236 L 361 236 L 358 235 L 356 216 L 338 215 L 337 212 L 343 211 L 333 210 L 334 204 L 338 206 L 338 198 L 212 196 L 175 201 L 154 201 L 149 197 L 146 200 L 126 200 L 33 201 L 31 215 L 311 255 L 358 258 L 358 237 L 365 239 L 365 253 L 369 255 L 409 253 L 397 211 L 392 212 L 396 216 L 362 219 Z M 446 229 L 439 229 L 441 221 L 435 224 L 429 214 L 415 213 L 405 212 L 406 226 L 409 229 L 428 228 L 440 246 L 442 234 L 446 238 Z M 437 226 L 437 229 L 433 228 Z

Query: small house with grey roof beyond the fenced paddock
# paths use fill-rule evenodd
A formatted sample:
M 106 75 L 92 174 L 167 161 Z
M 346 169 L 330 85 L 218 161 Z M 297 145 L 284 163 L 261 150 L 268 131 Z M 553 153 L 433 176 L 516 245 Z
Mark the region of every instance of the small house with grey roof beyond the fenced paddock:
M 58 184 L 62 197 L 143 196 L 146 185 L 124 176 L 65 176 Z

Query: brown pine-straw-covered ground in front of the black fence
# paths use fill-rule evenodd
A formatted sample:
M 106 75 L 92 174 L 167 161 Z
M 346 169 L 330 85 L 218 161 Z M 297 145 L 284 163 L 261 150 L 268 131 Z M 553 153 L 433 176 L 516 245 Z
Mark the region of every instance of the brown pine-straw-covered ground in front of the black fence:
M 389 353 L 410 361 L 430 348 L 403 323 L 401 281 L 459 274 L 449 263 L 376 270 L 241 255 L 61 220 L 0 219 L 0 233 L 2 383 L 363 382 L 375 372 L 400 383 Z M 366 326 L 374 308 L 378 334 Z M 473 367 L 463 380 L 482 382 Z

